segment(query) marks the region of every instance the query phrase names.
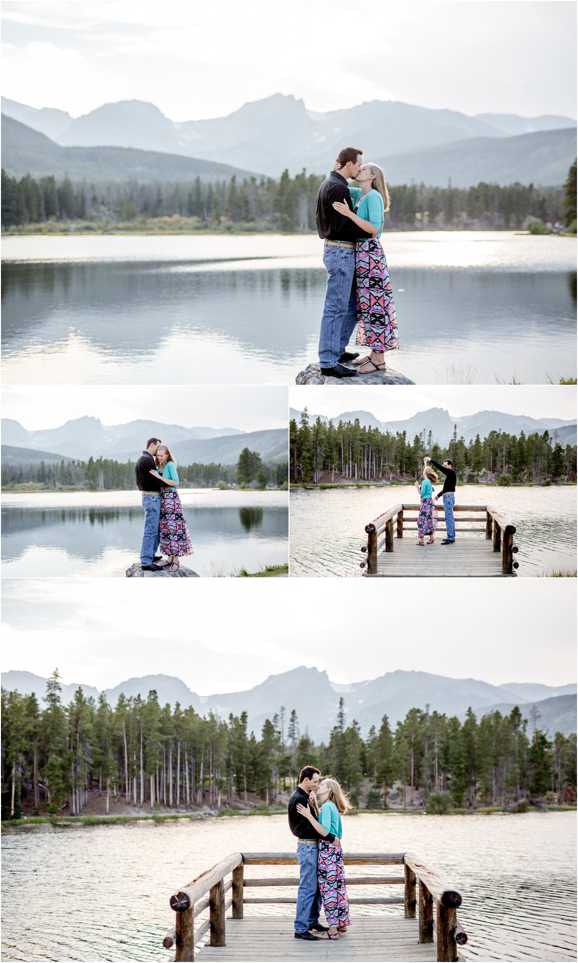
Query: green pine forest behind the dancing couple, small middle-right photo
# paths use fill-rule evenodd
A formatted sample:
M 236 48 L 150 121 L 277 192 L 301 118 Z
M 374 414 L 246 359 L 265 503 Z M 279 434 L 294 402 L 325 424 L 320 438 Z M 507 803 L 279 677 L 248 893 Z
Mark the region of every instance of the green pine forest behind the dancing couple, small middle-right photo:
M 342 478 L 355 481 L 413 481 L 421 475 L 424 455 L 435 461 L 450 457 L 460 481 L 486 481 L 509 484 L 511 481 L 576 481 L 576 445 L 558 441 L 558 432 L 534 432 L 519 436 L 505 431 L 490 431 L 486 438 L 477 434 L 466 444 L 454 426 L 452 440 L 440 447 L 433 432 L 424 429 L 412 442 L 406 431 L 381 431 L 355 422 L 325 424 L 318 416 L 313 425 L 303 408 L 299 425 L 289 423 L 289 463 L 292 481 L 328 481 Z M 467 470 L 467 473 L 466 473 Z

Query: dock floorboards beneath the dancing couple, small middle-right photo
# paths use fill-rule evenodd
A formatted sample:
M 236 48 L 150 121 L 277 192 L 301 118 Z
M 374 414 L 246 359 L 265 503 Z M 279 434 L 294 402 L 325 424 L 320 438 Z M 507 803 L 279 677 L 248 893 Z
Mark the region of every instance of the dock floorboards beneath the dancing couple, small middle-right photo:
M 445 537 L 445 535 L 444 535 Z M 393 539 L 393 552 L 378 556 L 376 575 L 366 578 L 395 576 L 475 576 L 476 578 L 502 575 L 502 553 L 492 551 L 491 538 L 460 538 L 453 545 L 442 545 L 436 535 L 434 545 L 418 548 L 417 534 L 404 534 Z

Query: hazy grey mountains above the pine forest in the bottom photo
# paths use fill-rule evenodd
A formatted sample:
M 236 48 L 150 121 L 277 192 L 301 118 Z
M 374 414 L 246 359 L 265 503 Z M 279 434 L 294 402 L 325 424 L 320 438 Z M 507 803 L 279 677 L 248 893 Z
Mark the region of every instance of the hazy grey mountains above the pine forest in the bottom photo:
M 39 698 L 45 690 L 46 680 L 31 672 L 6 672 L 2 685 L 8 690 L 18 690 L 22 694 L 36 692 Z M 78 686 L 87 697 L 96 699 L 98 691 L 88 685 L 73 684 L 63 686 L 62 699 L 67 705 L 73 698 Z M 450 679 L 446 676 L 428 672 L 398 669 L 386 672 L 378 679 L 351 685 L 331 683 L 325 671 L 307 668 L 304 665 L 269 676 L 263 683 L 250 690 L 218 693 L 200 696 L 190 690 L 182 680 L 168 675 L 148 675 L 141 678 L 126 679 L 113 689 L 104 690 L 107 701 L 115 706 L 120 692 L 128 698 L 141 694 L 143 698 L 150 690 L 156 690 L 159 703 L 176 702 L 185 709 L 192 706 L 201 715 L 214 713 L 228 718 L 229 713 L 240 715 L 244 710 L 249 714 L 249 727 L 260 734 L 266 718 L 273 716 L 285 707 L 286 717 L 293 709 L 300 721 L 301 732 L 308 732 L 316 742 L 327 741 L 329 732 L 335 724 L 339 698 L 343 697 L 347 717 L 356 719 L 366 736 L 372 725 L 379 728 L 381 718 L 389 717 L 392 727 L 405 718 L 409 709 L 414 707 L 463 719 L 471 707 L 480 717 L 495 709 L 503 714 L 510 713 L 519 706 L 524 717 L 528 717 L 533 705 L 541 714 L 539 727 L 547 731 L 550 738 L 555 732 L 565 736 L 576 732 L 576 686 L 545 686 L 541 683 L 510 683 L 493 686 L 477 679 Z

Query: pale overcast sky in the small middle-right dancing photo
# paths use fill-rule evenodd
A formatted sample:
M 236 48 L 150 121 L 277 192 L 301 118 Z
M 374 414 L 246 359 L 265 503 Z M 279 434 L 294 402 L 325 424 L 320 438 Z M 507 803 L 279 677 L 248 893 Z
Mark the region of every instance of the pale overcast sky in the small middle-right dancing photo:
M 530 418 L 576 417 L 576 389 L 568 385 L 380 385 L 352 389 L 332 386 L 319 394 L 309 385 L 289 389 L 291 407 L 334 418 L 344 411 L 370 411 L 380 421 L 399 421 L 418 411 L 445 408 L 454 417 L 478 411 L 503 411 Z

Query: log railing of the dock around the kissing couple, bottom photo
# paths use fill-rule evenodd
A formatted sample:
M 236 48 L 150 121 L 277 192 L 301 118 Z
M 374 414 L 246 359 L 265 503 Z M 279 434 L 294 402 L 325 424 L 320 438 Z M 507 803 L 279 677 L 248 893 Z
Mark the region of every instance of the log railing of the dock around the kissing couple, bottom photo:
M 419 942 L 434 942 L 434 902 L 436 905 L 435 932 L 437 960 L 457 960 L 458 945 L 467 943 L 467 934 L 460 925 L 456 909 L 461 905 L 460 893 L 442 876 L 428 867 L 413 853 L 364 853 L 344 854 L 344 864 L 349 866 L 403 866 L 403 875 L 355 876 L 348 885 L 403 885 L 404 895 L 399 897 L 350 898 L 350 903 L 360 905 L 403 904 L 404 915 L 416 916 L 416 884 L 419 884 Z M 271 878 L 245 878 L 245 866 L 295 866 L 297 854 L 293 852 L 230 853 L 210 870 L 200 873 L 191 883 L 173 893 L 171 908 L 175 911 L 175 926 L 163 938 L 163 946 L 175 948 L 175 961 L 194 960 L 197 943 L 208 932 L 212 947 L 225 946 L 225 916 L 232 908 L 232 918 L 243 919 L 244 903 L 296 903 L 296 897 L 250 897 L 244 896 L 245 887 L 296 887 L 299 878 L 281 876 Z M 224 877 L 232 874 L 226 883 Z M 225 894 L 232 890 L 232 897 L 225 901 Z M 208 896 L 207 896 L 208 894 Z M 197 917 L 209 909 L 209 919 L 201 922 L 195 930 Z

